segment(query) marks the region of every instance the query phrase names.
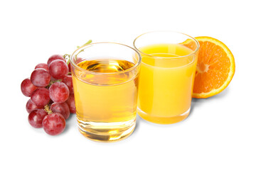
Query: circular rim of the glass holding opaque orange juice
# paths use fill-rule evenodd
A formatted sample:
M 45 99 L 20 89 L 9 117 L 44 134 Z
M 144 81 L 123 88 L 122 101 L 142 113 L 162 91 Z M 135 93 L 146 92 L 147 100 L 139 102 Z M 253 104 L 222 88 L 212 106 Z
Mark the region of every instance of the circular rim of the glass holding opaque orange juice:
M 178 56 L 178 57 L 171 57 L 172 59 L 183 58 L 183 57 L 189 57 L 189 56 L 191 56 L 191 55 L 195 55 L 196 52 L 198 52 L 199 47 L 200 47 L 198 40 L 196 40 L 196 38 L 191 37 L 191 35 L 187 35 L 187 34 L 185 34 L 185 33 L 181 33 L 181 32 L 178 32 L 178 31 L 173 31 L 173 30 L 154 30 L 154 31 L 149 31 L 149 32 L 146 32 L 146 33 L 143 33 L 143 34 L 137 36 L 137 38 L 135 38 L 135 39 L 134 39 L 134 42 L 133 42 L 134 48 L 135 48 L 137 51 L 141 52 L 143 55 L 148 55 L 148 56 L 150 56 L 150 57 L 155 57 L 155 58 L 159 58 L 159 59 L 161 59 L 161 58 L 167 59 L 167 58 L 168 58 L 168 57 L 158 57 L 158 56 L 146 54 L 146 53 L 140 51 L 140 50 L 136 47 L 136 45 L 135 45 L 136 40 L 137 40 L 138 38 L 141 38 L 142 35 L 146 35 L 146 34 L 149 34 L 149 33 L 178 33 L 178 34 L 181 34 L 181 35 L 186 35 L 186 36 L 188 36 L 189 38 L 191 38 L 192 40 L 194 40 L 194 41 L 196 42 L 196 45 L 197 45 L 196 50 L 193 50 L 193 52 L 191 52 L 191 53 L 188 54 L 188 55 L 182 55 L 182 56 Z

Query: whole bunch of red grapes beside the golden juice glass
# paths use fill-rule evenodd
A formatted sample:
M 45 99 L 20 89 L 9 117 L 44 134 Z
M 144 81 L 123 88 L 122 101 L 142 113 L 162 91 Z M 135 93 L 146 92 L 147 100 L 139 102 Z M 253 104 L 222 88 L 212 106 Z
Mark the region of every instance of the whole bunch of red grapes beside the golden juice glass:
M 65 130 L 65 120 L 75 113 L 75 99 L 70 64 L 63 55 L 53 55 L 46 63 L 37 64 L 31 77 L 21 83 L 28 122 L 33 128 L 43 128 L 48 135 Z

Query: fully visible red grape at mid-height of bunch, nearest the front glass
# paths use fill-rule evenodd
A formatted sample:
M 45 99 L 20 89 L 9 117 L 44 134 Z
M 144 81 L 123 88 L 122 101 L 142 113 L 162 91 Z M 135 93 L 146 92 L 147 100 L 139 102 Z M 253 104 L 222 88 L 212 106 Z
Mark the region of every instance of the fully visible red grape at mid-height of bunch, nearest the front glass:
M 68 99 L 70 94 L 68 86 L 63 82 L 55 82 L 49 88 L 50 99 L 55 103 L 63 103 Z

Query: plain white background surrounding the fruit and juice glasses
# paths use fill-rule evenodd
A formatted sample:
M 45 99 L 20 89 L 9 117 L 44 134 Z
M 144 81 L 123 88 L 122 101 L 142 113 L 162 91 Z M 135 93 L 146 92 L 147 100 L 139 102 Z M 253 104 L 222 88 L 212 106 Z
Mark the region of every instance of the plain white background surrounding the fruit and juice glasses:
M 256 169 L 253 2 L 1 0 L 0 169 Z M 181 123 L 137 118 L 133 134 L 120 142 L 87 140 L 75 115 L 58 136 L 29 125 L 20 84 L 36 64 L 89 39 L 132 46 L 151 30 L 223 41 L 235 56 L 233 81 L 217 96 L 193 99 Z

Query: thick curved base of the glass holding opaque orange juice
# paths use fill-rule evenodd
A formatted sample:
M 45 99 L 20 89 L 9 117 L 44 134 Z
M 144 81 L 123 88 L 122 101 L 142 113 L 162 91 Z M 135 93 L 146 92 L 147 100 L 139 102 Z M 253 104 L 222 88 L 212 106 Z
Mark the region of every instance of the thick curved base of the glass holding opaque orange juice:
M 145 113 L 144 111 L 140 110 L 138 108 L 138 114 L 140 117 L 142 117 L 144 120 L 147 120 L 151 123 L 157 123 L 157 124 L 172 124 L 172 123 L 178 123 L 184 119 L 186 119 L 189 115 L 191 108 L 188 108 L 188 111 L 185 113 L 182 113 L 181 115 L 175 115 L 171 117 L 158 117 L 154 115 L 150 115 L 148 113 Z

